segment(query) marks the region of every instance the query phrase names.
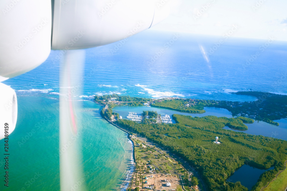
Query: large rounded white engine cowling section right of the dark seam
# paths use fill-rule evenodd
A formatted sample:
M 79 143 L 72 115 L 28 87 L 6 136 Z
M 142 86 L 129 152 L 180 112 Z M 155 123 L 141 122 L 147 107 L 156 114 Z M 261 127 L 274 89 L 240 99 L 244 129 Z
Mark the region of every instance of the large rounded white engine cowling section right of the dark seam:
M 169 14 L 169 7 L 159 6 L 158 0 L 55 0 L 54 7 L 55 50 L 110 44 L 150 28 Z

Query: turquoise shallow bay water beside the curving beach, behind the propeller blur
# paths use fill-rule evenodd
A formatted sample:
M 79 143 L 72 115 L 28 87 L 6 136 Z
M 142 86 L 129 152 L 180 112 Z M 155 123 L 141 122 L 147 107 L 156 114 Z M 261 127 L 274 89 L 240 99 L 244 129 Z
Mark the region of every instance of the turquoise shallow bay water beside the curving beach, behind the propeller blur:
M 126 133 L 101 119 L 99 105 L 82 103 L 84 112 L 79 120 L 85 126 L 82 161 L 86 188 L 120 190 L 131 167 L 131 142 Z M 9 136 L 9 188 L 3 190 L 59 190 L 58 100 L 18 97 L 18 105 L 16 129 Z

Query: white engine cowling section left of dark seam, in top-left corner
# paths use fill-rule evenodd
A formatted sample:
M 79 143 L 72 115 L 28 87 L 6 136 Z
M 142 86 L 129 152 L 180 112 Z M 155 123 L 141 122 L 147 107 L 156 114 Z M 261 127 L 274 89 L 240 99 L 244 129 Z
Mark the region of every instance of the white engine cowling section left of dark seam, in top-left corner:
M 0 82 L 42 64 L 51 51 L 51 0 L 0 1 Z

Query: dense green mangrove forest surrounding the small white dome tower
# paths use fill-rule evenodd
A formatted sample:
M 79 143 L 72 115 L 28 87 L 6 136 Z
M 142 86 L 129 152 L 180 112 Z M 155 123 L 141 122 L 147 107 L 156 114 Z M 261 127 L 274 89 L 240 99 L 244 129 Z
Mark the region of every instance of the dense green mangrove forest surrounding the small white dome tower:
M 118 122 L 122 127 L 136 131 L 183 157 L 202 175 L 210 190 L 247 191 L 239 182 L 226 182 L 243 164 L 264 169 L 274 166 L 273 170 L 260 176 L 252 190 L 260 190 L 285 168 L 287 141 L 222 129 L 225 123 L 241 127 L 241 119 L 231 118 L 230 121 L 214 116 L 199 118 L 184 115 L 173 115 L 173 118 L 177 124 L 148 125 L 124 119 Z M 216 136 L 221 144 L 213 143 Z

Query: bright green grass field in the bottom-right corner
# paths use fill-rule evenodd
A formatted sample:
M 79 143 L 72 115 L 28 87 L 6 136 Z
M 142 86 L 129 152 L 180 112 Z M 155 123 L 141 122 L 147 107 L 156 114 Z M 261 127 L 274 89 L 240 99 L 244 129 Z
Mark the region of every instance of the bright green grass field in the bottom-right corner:
M 287 168 L 281 172 L 276 180 L 271 182 L 266 188 L 263 188 L 262 191 L 285 191 L 287 187 Z

